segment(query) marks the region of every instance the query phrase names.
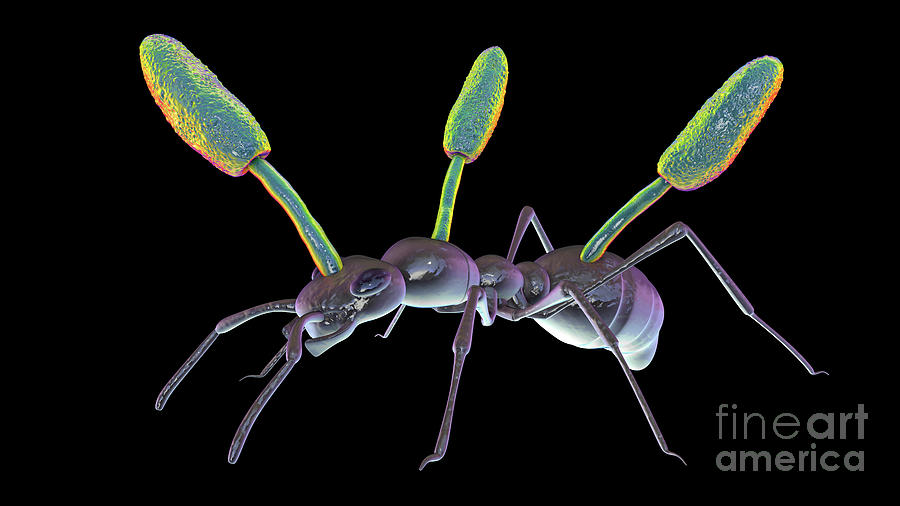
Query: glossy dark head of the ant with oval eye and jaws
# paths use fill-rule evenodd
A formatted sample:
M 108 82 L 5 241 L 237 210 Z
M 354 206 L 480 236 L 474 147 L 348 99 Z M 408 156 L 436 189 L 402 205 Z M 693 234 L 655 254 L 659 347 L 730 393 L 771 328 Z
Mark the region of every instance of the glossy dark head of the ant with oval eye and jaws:
M 331 276 L 313 270 L 309 282 L 297 297 L 297 314 L 321 311 L 325 319 L 309 323 L 310 335 L 304 343 L 317 357 L 343 341 L 360 323 L 381 318 L 403 302 L 406 284 L 400 269 L 364 256 L 342 258 L 343 268 Z

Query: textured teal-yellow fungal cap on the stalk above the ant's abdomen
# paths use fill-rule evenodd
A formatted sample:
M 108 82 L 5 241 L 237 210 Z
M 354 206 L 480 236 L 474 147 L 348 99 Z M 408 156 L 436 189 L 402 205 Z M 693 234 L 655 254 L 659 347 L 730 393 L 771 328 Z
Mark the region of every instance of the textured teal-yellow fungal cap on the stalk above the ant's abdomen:
M 659 175 L 679 190 L 694 190 L 717 178 L 759 124 L 783 75 L 781 62 L 771 56 L 738 69 L 660 157 Z

